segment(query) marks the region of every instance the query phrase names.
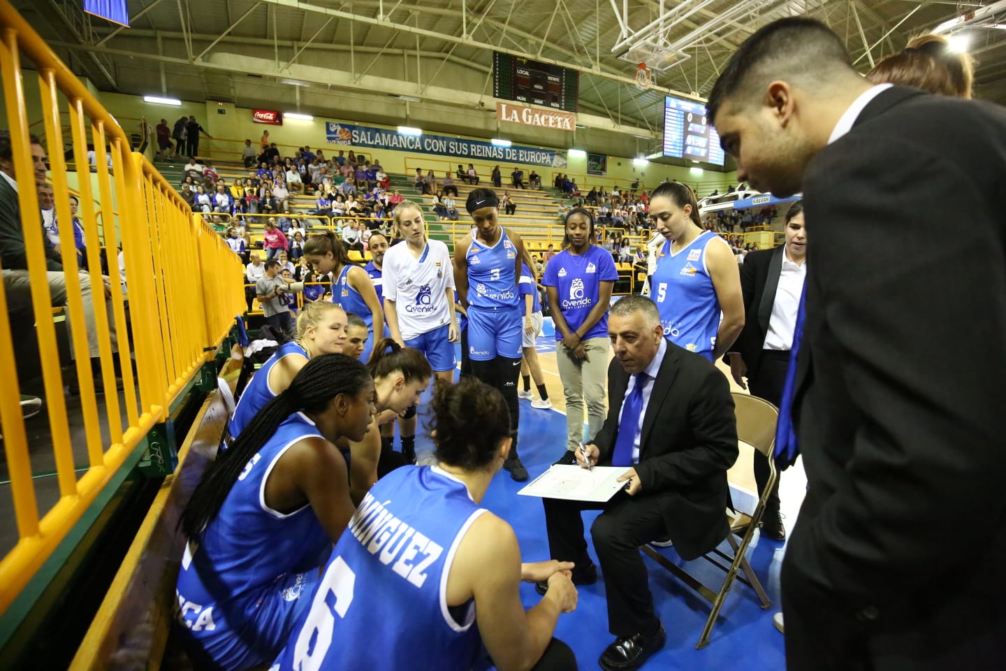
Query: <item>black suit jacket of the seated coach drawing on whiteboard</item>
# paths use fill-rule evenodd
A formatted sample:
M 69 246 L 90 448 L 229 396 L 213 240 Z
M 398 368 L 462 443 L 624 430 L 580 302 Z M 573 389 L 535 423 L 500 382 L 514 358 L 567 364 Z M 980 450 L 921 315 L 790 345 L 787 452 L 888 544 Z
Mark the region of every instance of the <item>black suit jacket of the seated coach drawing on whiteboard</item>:
M 600 464 L 611 464 L 629 373 L 618 359 L 608 367 L 608 417 L 592 441 Z M 726 378 L 705 357 L 667 341 L 643 415 L 642 491 L 660 507 L 674 547 L 685 559 L 726 537 L 726 470 L 737 459 L 737 429 Z

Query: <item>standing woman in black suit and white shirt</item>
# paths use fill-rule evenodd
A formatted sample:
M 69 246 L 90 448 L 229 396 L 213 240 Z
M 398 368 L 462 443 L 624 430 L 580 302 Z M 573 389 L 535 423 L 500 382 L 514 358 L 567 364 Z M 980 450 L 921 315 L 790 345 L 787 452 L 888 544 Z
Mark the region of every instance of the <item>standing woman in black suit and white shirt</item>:
M 786 244 L 751 251 L 740 266 L 744 299 L 744 328 L 724 358 L 733 381 L 777 407 L 783 399 L 790 348 L 797 325 L 797 308 L 807 274 L 807 231 L 802 200 L 786 212 Z M 769 482 L 769 460 L 754 453 L 754 481 L 759 494 Z M 786 540 L 779 512 L 779 480 L 766 502 L 763 530 L 774 540 Z

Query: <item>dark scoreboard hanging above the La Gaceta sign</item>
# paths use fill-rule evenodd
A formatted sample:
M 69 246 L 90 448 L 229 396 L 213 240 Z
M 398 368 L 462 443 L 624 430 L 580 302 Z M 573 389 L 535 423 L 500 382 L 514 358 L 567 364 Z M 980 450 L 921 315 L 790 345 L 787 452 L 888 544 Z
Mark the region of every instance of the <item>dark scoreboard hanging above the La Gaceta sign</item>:
M 493 51 L 493 97 L 576 111 L 579 72 Z

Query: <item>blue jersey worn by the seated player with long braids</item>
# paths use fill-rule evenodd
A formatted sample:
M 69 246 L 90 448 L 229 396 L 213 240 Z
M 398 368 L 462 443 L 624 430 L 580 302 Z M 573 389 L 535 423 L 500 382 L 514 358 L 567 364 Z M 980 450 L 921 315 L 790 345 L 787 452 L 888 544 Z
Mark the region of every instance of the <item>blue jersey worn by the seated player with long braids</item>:
M 292 414 L 244 466 L 220 512 L 190 539 L 175 592 L 187 636 L 226 669 L 268 663 L 306 611 L 318 568 L 332 541 L 305 505 L 281 513 L 266 505 L 266 481 L 298 441 L 320 436 Z M 301 576 L 303 571 L 313 571 Z M 298 606 L 301 607 L 298 610 Z

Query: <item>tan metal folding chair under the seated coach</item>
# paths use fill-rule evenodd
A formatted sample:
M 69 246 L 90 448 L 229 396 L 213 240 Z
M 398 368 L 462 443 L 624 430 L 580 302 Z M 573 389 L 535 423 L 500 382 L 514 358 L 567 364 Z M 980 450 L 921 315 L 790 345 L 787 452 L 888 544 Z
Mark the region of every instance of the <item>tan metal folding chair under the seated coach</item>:
M 717 547 L 708 554 L 703 555 L 703 558 L 710 563 L 726 571 L 726 576 L 723 578 L 723 583 L 720 585 L 719 592 L 713 592 L 702 584 L 702 582 L 689 574 L 684 568 L 658 552 L 652 545 L 644 545 L 641 548 L 654 561 L 676 575 L 685 584 L 712 604 L 712 611 L 705 621 L 702 635 L 699 637 L 698 643 L 695 644 L 695 647 L 698 649 L 702 649 L 709 644 L 709 635 L 712 633 L 712 626 L 716 624 L 716 617 L 719 615 L 719 610 L 723 607 L 723 602 L 726 600 L 726 595 L 730 591 L 734 578 L 754 590 L 762 601 L 763 610 L 772 606 L 765 588 L 762 586 L 762 582 L 758 579 L 758 576 L 751 569 L 750 563 L 747 561 L 746 554 L 747 546 L 751 542 L 754 530 L 762 523 L 766 502 L 772 493 L 773 487 L 776 486 L 776 479 L 779 477 L 776 471 L 776 462 L 772 458 L 772 453 L 776 445 L 776 422 L 779 418 L 779 409 L 768 400 L 759 398 L 758 396 L 738 393 L 736 391 L 731 392 L 730 395 L 733 396 L 733 413 L 737 422 L 737 440 L 741 443 L 746 443 L 769 458 L 769 481 L 759 493 L 758 505 L 750 515 L 727 511 L 730 532 L 726 534 L 726 539 L 730 543 L 733 554 L 730 555 Z M 737 535 L 740 536 L 739 542 L 736 538 Z M 729 563 L 724 563 L 727 561 Z M 739 575 L 738 571 L 742 572 L 743 575 Z

